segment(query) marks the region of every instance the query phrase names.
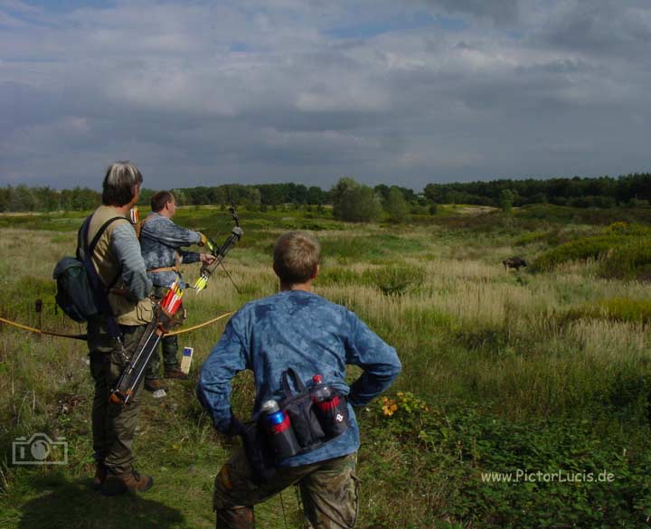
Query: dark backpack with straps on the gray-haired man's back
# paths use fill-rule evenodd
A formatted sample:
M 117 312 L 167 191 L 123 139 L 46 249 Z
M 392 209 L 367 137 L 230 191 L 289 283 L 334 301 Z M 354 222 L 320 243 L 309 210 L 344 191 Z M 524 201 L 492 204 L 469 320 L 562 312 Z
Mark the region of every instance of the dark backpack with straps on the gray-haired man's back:
M 92 264 L 92 254 L 99 242 L 99 238 L 112 222 L 124 219 L 124 217 L 113 217 L 104 222 L 99 231 L 88 244 L 88 231 L 90 226 L 89 215 L 81 224 L 77 233 L 77 255 L 76 257 L 64 257 L 57 262 L 52 272 L 52 278 L 57 282 L 57 293 L 54 297 L 57 305 L 71 319 L 83 323 L 93 316 L 104 315 L 108 317 L 107 323 L 111 327 L 109 334 L 115 335 L 118 332 L 118 326 L 109 321 L 115 318 L 110 312 L 109 298 L 107 294 L 109 289 L 115 285 L 120 274 L 108 287 L 104 287 L 99 279 L 97 270 Z M 81 251 L 83 250 L 83 257 Z

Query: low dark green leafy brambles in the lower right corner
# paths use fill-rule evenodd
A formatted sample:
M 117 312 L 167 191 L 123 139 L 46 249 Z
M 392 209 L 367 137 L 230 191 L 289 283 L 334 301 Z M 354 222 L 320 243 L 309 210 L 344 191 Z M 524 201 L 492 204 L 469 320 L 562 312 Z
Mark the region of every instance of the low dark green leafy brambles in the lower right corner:
M 637 527 L 651 515 L 651 454 L 622 449 L 630 434 L 598 419 L 509 420 L 398 392 L 378 401 L 366 424 L 363 435 L 399 445 L 410 469 L 363 451 L 378 482 L 391 476 L 384 486 L 404 491 L 378 509 L 378 526 L 400 526 L 408 509 L 398 502 L 408 506 L 407 491 L 422 492 L 422 475 L 430 476 L 431 515 L 464 527 Z

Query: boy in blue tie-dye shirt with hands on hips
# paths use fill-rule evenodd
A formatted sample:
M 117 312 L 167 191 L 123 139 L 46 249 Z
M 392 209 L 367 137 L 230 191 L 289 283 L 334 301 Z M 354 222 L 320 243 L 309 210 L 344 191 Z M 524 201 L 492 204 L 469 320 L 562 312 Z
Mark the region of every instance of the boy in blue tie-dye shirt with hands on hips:
M 217 528 L 252 528 L 253 505 L 298 484 L 305 515 L 314 529 L 353 527 L 357 517 L 355 477 L 359 428 L 354 407 L 386 390 L 401 371 L 393 347 L 385 344 L 353 312 L 312 292 L 320 246 L 307 233 L 289 231 L 274 248 L 273 268 L 280 292 L 253 301 L 231 318 L 220 342 L 203 364 L 197 394 L 214 426 L 227 435 L 242 433 L 231 412 L 231 379 L 250 369 L 255 377 L 254 413 L 264 401 L 282 400 L 281 373 L 292 368 L 308 383 L 319 373 L 347 401 L 350 426 L 307 453 L 277 462 L 273 477 L 260 484 L 243 450 L 215 479 Z M 345 365 L 363 368 L 351 385 Z

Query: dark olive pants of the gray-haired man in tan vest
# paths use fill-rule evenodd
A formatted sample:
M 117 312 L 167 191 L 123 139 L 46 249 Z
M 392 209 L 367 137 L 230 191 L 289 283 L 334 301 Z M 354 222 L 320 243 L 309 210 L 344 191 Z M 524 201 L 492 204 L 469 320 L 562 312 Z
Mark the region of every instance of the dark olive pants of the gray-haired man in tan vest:
M 146 326 L 120 326 L 127 358 L 134 354 Z M 95 381 L 92 406 L 93 449 L 95 460 L 116 474 L 127 472 L 133 463 L 132 444 L 137 425 L 137 393 L 123 406 L 109 401 L 110 390 L 127 365 L 113 338 L 98 320 L 89 322 L 88 346 L 90 374 Z

